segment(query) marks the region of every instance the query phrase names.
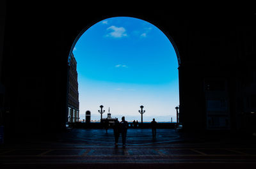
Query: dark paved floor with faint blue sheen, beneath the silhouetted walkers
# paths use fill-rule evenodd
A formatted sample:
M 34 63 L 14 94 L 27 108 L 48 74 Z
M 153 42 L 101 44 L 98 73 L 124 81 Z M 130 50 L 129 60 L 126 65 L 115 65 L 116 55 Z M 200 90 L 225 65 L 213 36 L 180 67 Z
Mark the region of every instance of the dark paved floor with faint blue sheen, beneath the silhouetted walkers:
M 121 142 L 116 149 L 111 129 L 13 140 L 0 145 L 0 168 L 256 168 L 254 138 L 129 129 L 126 149 Z

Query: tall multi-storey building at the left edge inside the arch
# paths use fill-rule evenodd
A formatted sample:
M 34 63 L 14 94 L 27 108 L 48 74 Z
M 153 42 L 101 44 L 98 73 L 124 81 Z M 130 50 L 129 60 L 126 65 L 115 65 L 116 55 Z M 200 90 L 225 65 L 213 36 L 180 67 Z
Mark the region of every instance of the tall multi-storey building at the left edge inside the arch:
M 79 93 L 76 59 L 74 54 L 68 60 L 68 122 L 79 122 Z

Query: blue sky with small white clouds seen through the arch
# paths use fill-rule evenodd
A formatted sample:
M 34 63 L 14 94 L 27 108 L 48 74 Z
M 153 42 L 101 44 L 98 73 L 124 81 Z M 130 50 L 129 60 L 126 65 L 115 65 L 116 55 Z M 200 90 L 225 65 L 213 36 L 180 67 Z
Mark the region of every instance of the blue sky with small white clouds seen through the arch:
M 77 61 L 80 117 L 99 106 L 112 117 L 173 121 L 179 105 L 178 62 L 172 43 L 156 26 L 131 17 L 102 20 L 86 30 L 73 54 Z M 103 114 L 106 117 L 107 113 Z

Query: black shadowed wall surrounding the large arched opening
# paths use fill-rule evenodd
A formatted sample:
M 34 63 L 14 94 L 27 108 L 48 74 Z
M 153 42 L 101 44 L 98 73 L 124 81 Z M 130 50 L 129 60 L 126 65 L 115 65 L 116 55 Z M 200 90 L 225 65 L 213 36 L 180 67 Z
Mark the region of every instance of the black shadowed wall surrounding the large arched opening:
M 67 59 L 74 41 L 84 28 L 119 16 L 146 20 L 175 43 L 184 129 L 209 128 L 207 118 L 212 117 L 207 99 L 214 97 L 227 102 L 227 129 L 243 131 L 250 127 L 241 120 L 246 121 L 246 115 L 255 110 L 256 15 L 250 8 L 185 10 L 183 6 L 156 3 L 147 8 L 138 3 L 122 8 L 74 2 L 5 3 L 1 7 L 6 13 L 1 14 L 4 36 L 0 72 L 5 88 L 1 115 L 7 131 L 33 133 L 65 128 Z M 205 82 L 209 79 L 222 79 L 225 91 L 207 91 Z

